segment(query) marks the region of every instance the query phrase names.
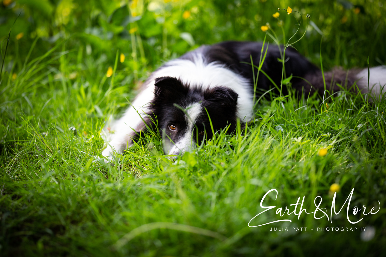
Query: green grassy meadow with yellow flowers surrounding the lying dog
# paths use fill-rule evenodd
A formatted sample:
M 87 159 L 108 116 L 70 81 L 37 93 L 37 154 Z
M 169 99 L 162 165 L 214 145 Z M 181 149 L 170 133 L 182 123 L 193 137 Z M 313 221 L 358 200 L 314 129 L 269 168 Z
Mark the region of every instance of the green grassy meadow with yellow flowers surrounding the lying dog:
M 386 64 L 383 0 L 3 0 L 0 256 L 385 252 L 384 99 L 368 103 L 343 88 L 300 98 L 269 91 L 257 96 L 245 129 L 218 131 L 175 163 L 157 134 L 115 156 L 114 165 L 101 159 L 105 122 L 129 106 L 152 71 L 201 44 L 262 41 L 266 33 L 283 44 L 296 20 L 285 10 L 272 15 L 288 6 L 303 15 L 292 42 L 304 37 L 293 46 L 325 71 L 367 68 L 368 56 L 369 67 Z M 266 44 L 275 40 L 268 35 Z M 330 218 L 334 192 L 338 212 L 352 188 L 349 212 L 346 203 L 332 220 L 275 214 L 292 212 L 303 196 L 313 212 L 320 196 Z M 250 225 L 292 222 L 249 227 L 271 189 L 277 198 L 270 193 L 264 206 L 276 208 Z M 363 205 L 366 215 L 354 215 Z M 363 220 L 352 224 L 347 215 Z M 346 227 L 354 231 L 340 230 Z

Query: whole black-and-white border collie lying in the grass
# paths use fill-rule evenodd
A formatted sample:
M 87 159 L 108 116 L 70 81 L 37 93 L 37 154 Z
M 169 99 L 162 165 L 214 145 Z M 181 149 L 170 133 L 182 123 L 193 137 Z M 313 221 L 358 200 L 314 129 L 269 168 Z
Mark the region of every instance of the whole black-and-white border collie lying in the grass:
M 122 118 L 111 124 L 102 155 L 111 160 L 113 153 L 122 154 L 130 148 L 139 133 L 159 129 L 164 153 L 176 158 L 194 149 L 196 143 L 212 138 L 211 122 L 214 131 L 229 126 L 228 131 L 232 132 L 237 119 L 250 121 L 254 106 L 250 56 L 257 66 L 261 49 L 262 43 L 257 42 L 222 42 L 203 45 L 167 62 L 151 74 Z M 280 58 L 278 47 L 269 46 L 262 65 L 262 70 L 279 86 Z M 285 59 L 286 77 L 292 74 L 293 88 L 307 95 L 310 91 L 323 95 L 322 72 L 318 67 L 291 48 L 286 50 Z M 370 73 L 370 88 L 375 85 L 372 94 L 377 96 L 386 83 L 386 67 L 371 68 Z M 359 90 L 366 92 L 367 69 L 349 72 L 335 69 L 325 73 L 325 81 L 330 92 L 340 90 L 337 84 L 350 88 L 354 82 Z M 259 75 L 257 88 L 268 90 L 272 85 L 267 76 Z M 283 86 L 283 95 L 286 94 Z

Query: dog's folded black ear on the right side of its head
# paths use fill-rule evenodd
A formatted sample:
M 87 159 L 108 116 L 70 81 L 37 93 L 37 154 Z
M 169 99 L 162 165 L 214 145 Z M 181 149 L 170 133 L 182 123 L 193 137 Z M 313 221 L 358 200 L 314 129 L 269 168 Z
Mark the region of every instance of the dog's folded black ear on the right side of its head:
M 223 107 L 236 108 L 239 95 L 227 87 L 214 87 L 204 92 L 204 99 L 213 101 Z

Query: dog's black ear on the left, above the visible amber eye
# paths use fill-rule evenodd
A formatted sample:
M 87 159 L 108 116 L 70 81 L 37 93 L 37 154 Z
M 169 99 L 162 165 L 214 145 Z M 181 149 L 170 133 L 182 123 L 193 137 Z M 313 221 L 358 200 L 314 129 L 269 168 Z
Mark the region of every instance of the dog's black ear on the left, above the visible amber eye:
M 159 77 L 154 82 L 154 104 L 163 101 L 172 101 L 186 96 L 189 91 L 188 86 L 184 86 L 179 79 L 174 77 Z

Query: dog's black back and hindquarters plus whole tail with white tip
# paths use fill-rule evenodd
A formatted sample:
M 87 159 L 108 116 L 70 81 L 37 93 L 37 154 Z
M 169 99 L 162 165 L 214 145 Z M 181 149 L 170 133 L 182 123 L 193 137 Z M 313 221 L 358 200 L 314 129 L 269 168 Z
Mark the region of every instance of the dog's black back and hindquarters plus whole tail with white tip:
M 191 59 L 195 52 L 202 53 L 208 62 L 220 62 L 226 65 L 230 70 L 249 80 L 252 85 L 257 74 L 257 66 L 262 62 L 261 70 L 267 76 L 261 74 L 257 81 L 257 88 L 266 91 L 273 87 L 272 81 L 276 86 L 280 86 L 282 77 L 281 62 L 282 54 L 284 54 L 284 47 L 281 46 L 279 50 L 276 45 L 265 44 L 262 48 L 261 42 L 239 42 L 226 41 L 210 46 L 201 46 L 200 48 L 188 52 L 181 56 L 181 59 Z M 252 57 L 252 58 L 251 58 Z M 254 71 L 252 71 L 251 59 L 253 62 Z M 370 88 L 373 87 L 373 94 L 379 94 L 380 88 L 386 83 L 386 67 L 378 66 L 370 69 Z M 284 58 L 284 78 L 293 76 L 291 79 L 292 88 L 298 92 L 318 91 L 323 95 L 325 89 L 322 71 L 307 60 L 303 55 L 299 54 L 292 47 L 288 47 Z M 350 69 L 344 70 L 341 67 L 335 67 L 330 72 L 325 72 L 326 89 L 330 91 L 339 91 L 342 87 L 351 88 L 354 83 L 358 86 L 362 93 L 367 92 L 367 69 Z M 271 80 L 272 81 L 271 81 Z M 356 89 L 354 89 L 356 90 Z M 277 91 L 276 91 L 277 92 Z M 288 94 L 287 87 L 283 87 L 284 95 Z

